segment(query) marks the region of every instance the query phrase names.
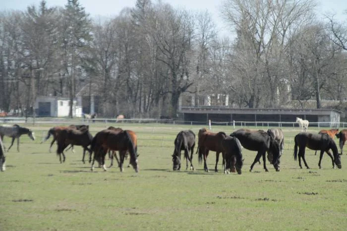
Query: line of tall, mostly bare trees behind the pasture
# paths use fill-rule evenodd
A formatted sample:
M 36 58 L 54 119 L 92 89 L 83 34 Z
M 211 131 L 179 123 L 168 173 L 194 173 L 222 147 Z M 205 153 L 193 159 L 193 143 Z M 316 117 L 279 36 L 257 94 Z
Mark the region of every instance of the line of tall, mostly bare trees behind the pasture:
M 97 86 L 101 116 L 175 116 L 183 95 L 194 105 L 228 96 L 249 108 L 346 100 L 347 23 L 315 7 L 224 0 L 232 40 L 218 36 L 208 11 L 151 0 L 105 20 L 92 20 L 78 0 L 2 11 L 0 109 L 29 112 L 37 96 L 72 101 L 84 86 Z

